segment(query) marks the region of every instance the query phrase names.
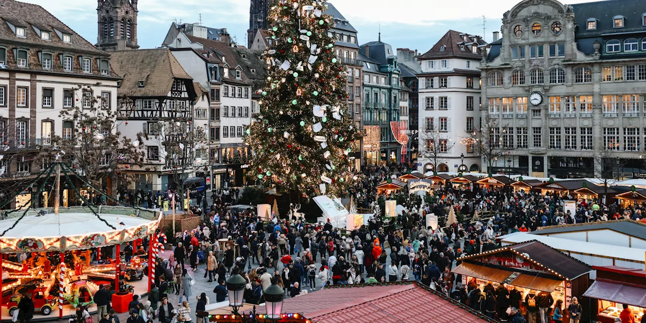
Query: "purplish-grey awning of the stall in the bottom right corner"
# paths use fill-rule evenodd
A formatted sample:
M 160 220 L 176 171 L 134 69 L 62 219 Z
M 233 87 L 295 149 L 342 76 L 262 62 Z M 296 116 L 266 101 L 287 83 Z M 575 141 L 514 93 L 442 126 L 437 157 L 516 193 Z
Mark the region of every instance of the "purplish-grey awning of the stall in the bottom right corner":
M 585 297 L 646 308 L 646 288 L 595 280 Z

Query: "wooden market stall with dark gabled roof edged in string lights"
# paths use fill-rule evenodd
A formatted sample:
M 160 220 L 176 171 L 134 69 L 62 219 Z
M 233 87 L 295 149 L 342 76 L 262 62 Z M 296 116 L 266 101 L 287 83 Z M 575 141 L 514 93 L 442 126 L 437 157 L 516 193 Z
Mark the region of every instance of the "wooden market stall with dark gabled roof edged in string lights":
M 462 275 L 463 286 L 477 286 L 484 290 L 487 284 L 492 284 L 494 288 L 502 285 L 510 291 L 519 291 L 521 300 L 524 300 L 520 304 L 521 313 L 528 322 L 528 315 L 537 314 L 528 311 L 528 298 L 548 293 L 555 302 L 562 300 L 567 307 L 572 297 L 583 294 L 592 270 L 587 264 L 536 240 L 457 260 L 462 264 L 455 267 L 453 273 Z M 568 322 L 567 315 L 563 321 Z

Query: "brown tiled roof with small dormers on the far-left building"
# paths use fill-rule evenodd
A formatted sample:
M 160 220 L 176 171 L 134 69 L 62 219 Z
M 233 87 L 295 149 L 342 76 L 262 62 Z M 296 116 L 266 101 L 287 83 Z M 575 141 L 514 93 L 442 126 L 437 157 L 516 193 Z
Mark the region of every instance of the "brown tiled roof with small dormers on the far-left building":
M 30 45 L 37 45 L 42 47 L 59 47 L 67 50 L 80 50 L 83 52 L 91 52 L 100 56 L 109 56 L 105 52 L 98 50 L 94 45 L 85 40 L 79 34 L 74 32 L 72 28 L 68 27 L 50 14 L 45 8 L 39 5 L 32 5 L 29 3 L 22 3 L 13 0 L 0 1 L 0 18 L 9 21 L 12 25 L 23 26 L 25 28 L 26 38 L 17 37 L 16 33 L 6 24 L 0 26 L 0 39 L 12 41 L 14 43 L 28 43 Z M 70 43 L 63 43 L 62 36 L 58 36 L 57 32 L 50 34 L 50 40 L 46 41 L 41 39 L 41 36 L 36 34 L 34 28 L 29 26 L 36 26 L 36 28 L 45 28 L 46 30 L 57 30 L 62 34 L 69 34 L 72 39 Z

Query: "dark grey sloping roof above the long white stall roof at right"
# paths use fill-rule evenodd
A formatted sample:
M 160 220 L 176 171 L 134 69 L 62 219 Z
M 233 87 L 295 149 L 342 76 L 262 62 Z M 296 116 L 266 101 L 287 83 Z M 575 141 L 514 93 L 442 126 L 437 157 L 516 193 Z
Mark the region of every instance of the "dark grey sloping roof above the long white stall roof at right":
M 618 233 L 646 240 L 646 224 L 633 220 L 612 220 L 582 224 L 552 225 L 549 227 L 539 227 L 537 231 L 534 231 L 534 234 L 548 235 L 552 233 L 584 232 L 603 229 L 616 231 Z

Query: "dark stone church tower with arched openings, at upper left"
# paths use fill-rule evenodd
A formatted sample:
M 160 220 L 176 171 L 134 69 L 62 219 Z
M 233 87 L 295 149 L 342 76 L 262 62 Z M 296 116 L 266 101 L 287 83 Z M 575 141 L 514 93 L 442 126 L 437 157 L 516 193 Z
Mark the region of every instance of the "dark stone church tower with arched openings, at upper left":
M 131 50 L 137 45 L 137 0 L 98 0 L 97 44 L 100 50 Z

